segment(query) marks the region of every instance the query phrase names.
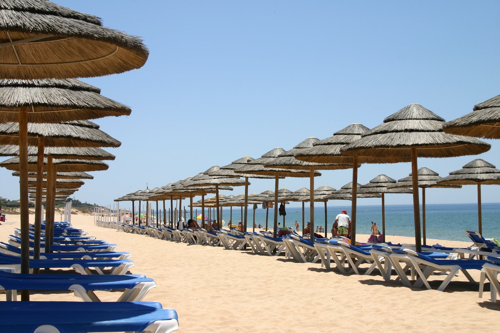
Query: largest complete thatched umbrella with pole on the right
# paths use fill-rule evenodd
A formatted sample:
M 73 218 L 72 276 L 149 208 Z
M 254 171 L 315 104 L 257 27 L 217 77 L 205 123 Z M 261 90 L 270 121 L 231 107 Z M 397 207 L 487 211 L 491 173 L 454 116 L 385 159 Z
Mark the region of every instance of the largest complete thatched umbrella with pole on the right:
M 409 104 L 340 149 L 342 154 L 373 156 L 398 162 L 411 160 L 416 250 L 421 251 L 417 157 L 475 155 L 490 145 L 477 139 L 444 133 L 444 119 L 419 104 Z M 374 162 L 376 163 L 376 162 Z

